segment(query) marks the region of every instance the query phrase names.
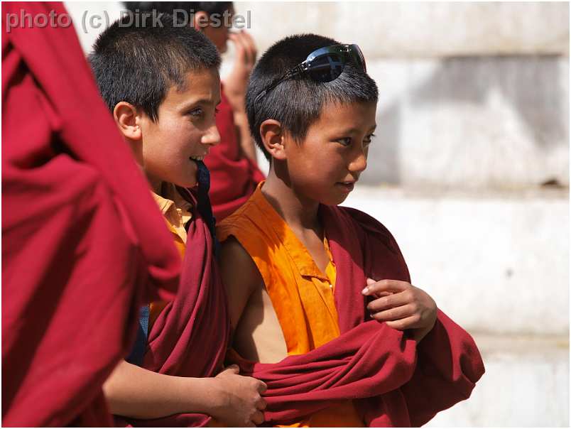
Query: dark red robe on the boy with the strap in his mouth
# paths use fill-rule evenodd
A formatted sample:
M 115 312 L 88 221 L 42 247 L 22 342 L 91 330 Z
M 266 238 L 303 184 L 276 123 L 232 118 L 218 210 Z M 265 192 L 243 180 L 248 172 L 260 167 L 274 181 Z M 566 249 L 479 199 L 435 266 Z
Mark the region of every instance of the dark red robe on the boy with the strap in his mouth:
M 195 195 L 194 190 L 183 195 L 193 203 L 193 210 L 178 293 L 148 333 L 142 366 L 173 376 L 211 377 L 222 370 L 230 321 L 212 235 L 196 209 Z M 204 414 L 183 413 L 149 420 L 118 418 L 116 423 L 170 427 L 204 426 L 209 421 L 210 417 Z

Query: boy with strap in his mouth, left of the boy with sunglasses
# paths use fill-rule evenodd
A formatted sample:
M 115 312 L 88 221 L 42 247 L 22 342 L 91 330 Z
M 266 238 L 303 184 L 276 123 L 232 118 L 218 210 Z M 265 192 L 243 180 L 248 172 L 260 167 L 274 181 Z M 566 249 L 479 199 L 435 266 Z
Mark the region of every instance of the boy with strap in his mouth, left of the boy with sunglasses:
M 265 385 L 235 367 L 222 371 L 219 352 L 227 344 L 226 303 L 202 159 L 219 143 L 220 57 L 210 40 L 168 15 L 160 26 L 125 21 L 99 36 L 89 61 L 183 256 L 183 273 L 173 300 L 148 303 L 141 323 L 148 335 L 141 355 L 129 359 L 140 366 L 121 362 L 104 393 L 112 413 L 128 418 L 119 423 L 212 424 L 207 415 L 219 424 L 255 425 Z

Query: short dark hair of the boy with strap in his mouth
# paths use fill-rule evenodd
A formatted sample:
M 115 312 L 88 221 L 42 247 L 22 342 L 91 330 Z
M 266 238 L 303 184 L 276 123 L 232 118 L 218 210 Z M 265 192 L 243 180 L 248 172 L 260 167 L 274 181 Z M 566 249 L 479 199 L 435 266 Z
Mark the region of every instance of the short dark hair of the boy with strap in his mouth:
M 168 14 L 161 16 L 162 25 L 151 23 L 122 16 L 97 38 L 88 60 L 111 111 L 128 102 L 156 121 L 168 90 L 184 89 L 191 70 L 219 70 L 220 55 L 206 36 L 175 26 Z

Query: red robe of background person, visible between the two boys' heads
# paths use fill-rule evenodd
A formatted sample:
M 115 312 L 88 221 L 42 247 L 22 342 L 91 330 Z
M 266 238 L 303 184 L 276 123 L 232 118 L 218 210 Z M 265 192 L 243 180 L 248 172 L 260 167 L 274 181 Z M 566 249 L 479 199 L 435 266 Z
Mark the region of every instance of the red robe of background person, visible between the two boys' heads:
M 220 143 L 210 148 L 204 161 L 211 173 L 209 195 L 217 222 L 232 215 L 265 179 L 258 166 L 241 153 L 232 107 L 224 91 L 221 95 L 216 114 Z

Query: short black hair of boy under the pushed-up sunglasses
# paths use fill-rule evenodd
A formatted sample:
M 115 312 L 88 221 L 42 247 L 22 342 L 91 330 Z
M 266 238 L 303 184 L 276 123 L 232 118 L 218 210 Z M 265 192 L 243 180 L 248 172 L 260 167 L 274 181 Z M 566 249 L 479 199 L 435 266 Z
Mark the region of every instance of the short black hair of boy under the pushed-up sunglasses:
M 266 119 L 276 119 L 293 139 L 300 141 L 319 118 L 325 103 L 377 102 L 379 90 L 375 81 L 359 67 L 347 63 L 342 74 L 331 82 L 315 82 L 307 75 L 285 80 L 254 106 L 263 89 L 302 63 L 312 51 L 337 43 L 315 34 L 288 36 L 272 45 L 254 67 L 246 92 L 246 113 L 251 134 L 268 161 L 271 156 L 260 136 L 260 125 Z

